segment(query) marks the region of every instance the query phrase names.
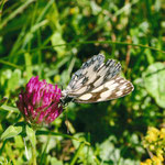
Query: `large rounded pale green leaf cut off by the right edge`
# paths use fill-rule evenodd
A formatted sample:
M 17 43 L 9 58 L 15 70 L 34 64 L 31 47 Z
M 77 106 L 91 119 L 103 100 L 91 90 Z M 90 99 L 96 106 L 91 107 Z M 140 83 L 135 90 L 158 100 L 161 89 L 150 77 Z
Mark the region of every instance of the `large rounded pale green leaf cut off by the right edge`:
M 165 65 L 154 63 L 143 73 L 144 86 L 156 103 L 165 108 Z

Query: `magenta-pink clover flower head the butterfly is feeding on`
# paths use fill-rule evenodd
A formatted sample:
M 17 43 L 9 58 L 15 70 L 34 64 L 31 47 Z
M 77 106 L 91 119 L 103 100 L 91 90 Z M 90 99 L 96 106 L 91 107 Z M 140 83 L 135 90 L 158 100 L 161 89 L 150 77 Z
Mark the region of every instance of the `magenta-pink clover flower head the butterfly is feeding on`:
M 62 91 L 57 85 L 40 81 L 36 76 L 30 79 L 25 91 L 21 91 L 16 106 L 28 122 L 48 124 L 63 112 L 61 97 Z

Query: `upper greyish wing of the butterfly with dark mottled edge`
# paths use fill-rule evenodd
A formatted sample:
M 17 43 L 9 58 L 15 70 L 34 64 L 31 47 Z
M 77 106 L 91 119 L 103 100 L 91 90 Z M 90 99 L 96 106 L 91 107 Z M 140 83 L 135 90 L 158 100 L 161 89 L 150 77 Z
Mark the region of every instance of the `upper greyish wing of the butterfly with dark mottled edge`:
M 101 63 L 97 64 L 97 59 L 101 58 Z M 69 96 L 76 97 L 82 95 L 87 91 L 90 91 L 106 81 L 118 75 L 121 70 L 120 63 L 116 63 L 114 59 L 109 59 L 107 63 L 103 63 L 103 55 L 94 56 L 88 62 L 84 63 L 82 67 L 73 75 L 72 85 L 75 85 L 73 88 L 70 84 L 68 85 Z M 89 65 L 91 64 L 92 65 Z M 89 66 L 85 67 L 84 66 Z M 82 73 L 78 75 L 79 73 Z M 82 76 L 81 76 L 82 75 Z M 81 77 L 81 78 L 79 78 Z M 77 78 L 77 79 L 76 79 Z

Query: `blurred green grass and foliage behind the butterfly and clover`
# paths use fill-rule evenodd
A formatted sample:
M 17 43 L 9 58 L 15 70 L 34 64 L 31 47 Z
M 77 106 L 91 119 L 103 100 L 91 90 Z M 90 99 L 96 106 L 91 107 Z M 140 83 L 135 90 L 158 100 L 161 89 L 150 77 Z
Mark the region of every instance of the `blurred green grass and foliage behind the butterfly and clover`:
M 0 134 L 22 121 L 15 101 L 32 76 L 65 88 L 99 53 L 121 63 L 134 91 L 101 103 L 70 102 L 45 130 L 69 130 L 91 145 L 41 134 L 37 163 L 136 165 L 147 158 L 147 128 L 165 127 L 164 0 L 1 0 Z M 0 141 L 0 162 L 28 164 L 25 146 L 31 150 L 22 135 Z

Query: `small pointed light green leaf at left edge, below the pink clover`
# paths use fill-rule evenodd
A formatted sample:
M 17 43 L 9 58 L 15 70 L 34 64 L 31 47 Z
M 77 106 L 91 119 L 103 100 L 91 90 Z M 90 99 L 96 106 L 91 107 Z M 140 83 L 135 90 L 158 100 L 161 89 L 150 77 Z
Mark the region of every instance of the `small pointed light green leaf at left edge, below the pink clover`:
M 22 127 L 10 125 L 1 135 L 2 140 L 13 138 L 22 132 Z

